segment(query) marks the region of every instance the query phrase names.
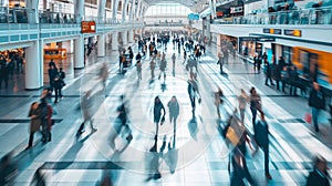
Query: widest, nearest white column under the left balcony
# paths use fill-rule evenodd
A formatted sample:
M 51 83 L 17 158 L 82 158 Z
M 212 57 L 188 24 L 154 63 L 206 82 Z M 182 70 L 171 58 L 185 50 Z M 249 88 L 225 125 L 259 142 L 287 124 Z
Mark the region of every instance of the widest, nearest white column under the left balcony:
M 43 63 L 40 41 L 34 41 L 25 52 L 25 90 L 39 90 L 43 85 Z

